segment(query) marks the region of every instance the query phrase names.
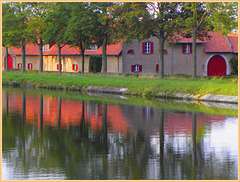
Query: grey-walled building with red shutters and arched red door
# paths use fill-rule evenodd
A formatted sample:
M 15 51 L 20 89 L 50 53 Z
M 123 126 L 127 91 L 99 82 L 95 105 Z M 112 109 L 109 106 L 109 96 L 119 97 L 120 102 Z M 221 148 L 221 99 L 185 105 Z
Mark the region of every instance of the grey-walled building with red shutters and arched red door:
M 229 75 L 229 61 L 238 54 L 238 36 L 208 32 L 210 39 L 197 39 L 197 75 Z M 123 45 L 123 72 L 139 74 L 158 73 L 158 39 L 150 38 L 142 42 L 133 40 Z M 166 75 L 192 74 L 192 38 L 182 38 L 169 47 L 164 45 L 164 73 Z

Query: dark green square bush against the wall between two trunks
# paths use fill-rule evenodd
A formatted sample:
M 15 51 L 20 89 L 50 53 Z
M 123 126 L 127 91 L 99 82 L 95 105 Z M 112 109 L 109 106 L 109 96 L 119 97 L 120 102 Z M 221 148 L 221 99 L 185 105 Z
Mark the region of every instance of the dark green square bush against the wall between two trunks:
M 98 73 L 102 70 L 102 56 L 91 55 L 89 60 L 89 73 Z

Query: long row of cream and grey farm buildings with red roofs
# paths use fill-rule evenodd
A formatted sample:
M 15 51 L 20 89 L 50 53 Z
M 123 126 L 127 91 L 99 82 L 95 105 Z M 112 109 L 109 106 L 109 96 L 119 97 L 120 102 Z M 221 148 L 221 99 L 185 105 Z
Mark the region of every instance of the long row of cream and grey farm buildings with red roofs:
M 231 72 L 229 61 L 238 55 L 238 35 L 221 35 L 219 32 L 208 32 L 209 38 L 197 39 L 197 75 L 225 76 Z M 182 38 L 170 47 L 164 45 L 165 75 L 192 74 L 192 38 Z M 90 55 L 101 55 L 102 47 L 91 46 L 85 51 L 84 72 L 89 70 Z M 44 71 L 58 71 L 58 50 L 56 46 L 43 47 Z M 12 68 L 21 69 L 21 49 L 14 49 L 11 56 Z M 131 44 L 117 43 L 107 47 L 109 73 L 157 74 L 158 73 L 158 39 L 150 38 Z M 9 59 L 11 60 L 11 58 Z M 79 72 L 82 70 L 82 58 L 76 48 L 68 45 L 62 48 L 62 71 Z M 26 69 L 39 69 L 38 46 L 26 46 Z

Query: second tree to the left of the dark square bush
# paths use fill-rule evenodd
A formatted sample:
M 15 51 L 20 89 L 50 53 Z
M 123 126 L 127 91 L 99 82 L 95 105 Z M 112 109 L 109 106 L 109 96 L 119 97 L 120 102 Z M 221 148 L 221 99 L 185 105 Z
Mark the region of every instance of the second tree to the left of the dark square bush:
M 43 34 L 46 43 L 56 44 L 58 47 L 58 65 L 61 65 L 61 49 L 67 44 L 65 32 L 70 18 L 70 6 L 67 3 L 55 3 L 53 11 L 49 12 L 45 24 L 47 28 Z M 61 74 L 61 66 L 58 69 Z

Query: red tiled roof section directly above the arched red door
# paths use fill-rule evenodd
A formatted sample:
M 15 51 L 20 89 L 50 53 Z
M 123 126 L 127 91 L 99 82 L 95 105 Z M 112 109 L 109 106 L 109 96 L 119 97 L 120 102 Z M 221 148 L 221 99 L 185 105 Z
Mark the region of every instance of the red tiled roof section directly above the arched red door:
M 233 52 L 226 37 L 224 37 L 220 32 L 208 32 L 211 36 L 207 40 L 205 46 L 205 52 Z

